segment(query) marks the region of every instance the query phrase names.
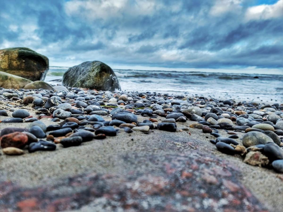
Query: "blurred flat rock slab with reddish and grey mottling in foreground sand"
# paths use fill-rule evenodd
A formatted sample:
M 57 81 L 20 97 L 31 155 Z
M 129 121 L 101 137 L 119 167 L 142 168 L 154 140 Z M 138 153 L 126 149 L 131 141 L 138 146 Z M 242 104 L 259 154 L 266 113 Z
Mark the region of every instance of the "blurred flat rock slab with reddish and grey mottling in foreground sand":
M 132 211 L 265 211 L 239 183 L 240 172 L 222 159 L 194 150 L 190 154 L 120 155 L 125 165 L 151 163 L 127 175 L 90 172 L 60 179 L 54 185 L 22 187 L 0 183 L 1 211 L 62 211 L 89 205 Z M 5 194 L 5 195 L 3 195 Z

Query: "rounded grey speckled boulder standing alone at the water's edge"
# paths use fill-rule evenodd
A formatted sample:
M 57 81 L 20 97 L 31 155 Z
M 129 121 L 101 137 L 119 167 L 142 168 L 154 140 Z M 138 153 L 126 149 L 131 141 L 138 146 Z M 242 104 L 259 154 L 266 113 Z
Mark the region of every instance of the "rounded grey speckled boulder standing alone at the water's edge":
M 64 86 L 89 88 L 96 90 L 121 89 L 112 68 L 100 61 L 83 62 L 64 73 Z

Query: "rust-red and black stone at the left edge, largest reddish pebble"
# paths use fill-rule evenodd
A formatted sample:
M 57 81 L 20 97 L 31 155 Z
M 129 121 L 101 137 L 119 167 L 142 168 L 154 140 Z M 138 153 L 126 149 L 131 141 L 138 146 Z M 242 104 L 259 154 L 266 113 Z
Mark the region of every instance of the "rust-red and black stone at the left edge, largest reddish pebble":
M 16 147 L 16 148 L 24 148 L 27 145 L 28 137 L 24 133 L 21 132 L 14 132 L 3 135 L 0 137 L 1 140 L 1 147 Z

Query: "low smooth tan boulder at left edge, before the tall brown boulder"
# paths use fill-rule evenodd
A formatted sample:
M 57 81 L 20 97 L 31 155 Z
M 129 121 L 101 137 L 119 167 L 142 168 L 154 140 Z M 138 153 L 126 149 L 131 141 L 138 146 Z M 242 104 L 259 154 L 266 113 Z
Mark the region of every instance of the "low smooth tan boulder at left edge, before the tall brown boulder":
M 0 72 L 0 87 L 2 88 L 23 88 L 27 83 L 32 81 L 25 79 L 23 77 L 18 77 L 5 72 Z

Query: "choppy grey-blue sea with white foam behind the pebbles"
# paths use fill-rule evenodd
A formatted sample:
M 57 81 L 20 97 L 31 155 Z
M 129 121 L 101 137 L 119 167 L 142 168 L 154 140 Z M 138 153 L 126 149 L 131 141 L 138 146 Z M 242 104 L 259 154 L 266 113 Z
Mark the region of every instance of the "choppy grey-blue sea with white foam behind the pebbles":
M 68 67 L 50 66 L 45 81 L 60 85 Z M 283 75 L 113 69 L 122 91 L 283 103 Z

